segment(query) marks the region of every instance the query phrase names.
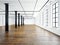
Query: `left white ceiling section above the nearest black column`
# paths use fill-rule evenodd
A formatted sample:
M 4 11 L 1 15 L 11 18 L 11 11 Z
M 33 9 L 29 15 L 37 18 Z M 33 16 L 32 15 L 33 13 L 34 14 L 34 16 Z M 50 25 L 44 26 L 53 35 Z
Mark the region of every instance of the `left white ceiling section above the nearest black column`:
M 4 10 L 5 10 L 5 5 L 4 3 L 8 3 L 9 4 L 9 11 L 22 11 L 22 7 L 21 5 L 18 3 L 18 0 L 0 0 L 0 3 L 3 4 L 1 5 L 1 8 L 4 6 Z

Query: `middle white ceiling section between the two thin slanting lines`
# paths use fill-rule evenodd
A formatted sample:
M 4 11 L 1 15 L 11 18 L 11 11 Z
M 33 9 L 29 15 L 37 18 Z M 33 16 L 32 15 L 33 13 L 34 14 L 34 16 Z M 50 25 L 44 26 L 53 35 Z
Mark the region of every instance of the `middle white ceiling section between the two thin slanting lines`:
M 22 6 L 24 7 L 24 10 L 26 11 L 33 11 L 34 6 L 36 3 L 36 0 L 20 0 Z

